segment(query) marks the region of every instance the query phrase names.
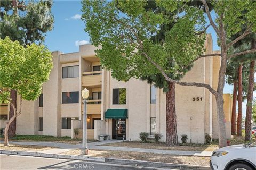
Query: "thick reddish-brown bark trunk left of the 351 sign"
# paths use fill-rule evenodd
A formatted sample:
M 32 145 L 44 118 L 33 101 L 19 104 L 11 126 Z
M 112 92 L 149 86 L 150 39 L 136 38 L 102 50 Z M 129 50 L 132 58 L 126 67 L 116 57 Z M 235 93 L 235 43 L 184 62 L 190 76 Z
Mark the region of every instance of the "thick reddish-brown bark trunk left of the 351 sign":
M 166 145 L 179 145 L 175 109 L 175 83 L 169 82 L 166 93 Z

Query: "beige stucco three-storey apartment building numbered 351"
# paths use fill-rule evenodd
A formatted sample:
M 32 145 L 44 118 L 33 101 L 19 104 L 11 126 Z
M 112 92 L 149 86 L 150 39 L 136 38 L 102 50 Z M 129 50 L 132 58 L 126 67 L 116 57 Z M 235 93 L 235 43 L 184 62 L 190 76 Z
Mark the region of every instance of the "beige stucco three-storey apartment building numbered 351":
M 213 53 L 211 35 L 207 35 L 205 47 L 206 54 Z M 134 78 L 127 82 L 113 79 L 110 71 L 101 69 L 94 50 L 92 45 L 82 45 L 75 53 L 52 52 L 54 67 L 50 79 L 44 83 L 38 100 L 22 102 L 17 134 L 74 138 L 74 129 L 78 128 L 81 137 L 81 91 L 86 87 L 90 91 L 87 104 L 89 139 L 109 135 L 110 139 L 139 140 L 140 132 L 149 132 L 152 136 L 161 133 L 161 140 L 165 141 L 165 94 L 162 89 Z M 201 58 L 182 81 L 207 83 L 216 89 L 219 68 L 218 56 Z M 230 94 L 225 94 L 224 99 L 226 131 L 230 138 Z M 204 143 L 206 133 L 218 138 L 215 98 L 207 89 L 177 85 L 175 100 L 179 139 L 187 134 L 188 141 Z M 8 107 L 1 106 L 1 115 L 7 115 Z M 1 128 L 2 125 L 1 122 Z

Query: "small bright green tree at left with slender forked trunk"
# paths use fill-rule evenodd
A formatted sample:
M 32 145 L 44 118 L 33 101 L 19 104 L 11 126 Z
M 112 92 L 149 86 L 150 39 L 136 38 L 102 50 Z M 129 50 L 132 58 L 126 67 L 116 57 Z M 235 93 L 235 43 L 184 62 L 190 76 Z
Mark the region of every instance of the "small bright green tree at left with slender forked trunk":
M 21 114 L 22 99 L 36 100 L 52 69 L 51 52 L 35 43 L 23 47 L 9 37 L 0 39 L 0 101 L 10 103 L 14 115 L 5 126 L 4 146 L 8 146 L 10 124 Z M 11 89 L 20 96 L 19 111 L 9 97 Z

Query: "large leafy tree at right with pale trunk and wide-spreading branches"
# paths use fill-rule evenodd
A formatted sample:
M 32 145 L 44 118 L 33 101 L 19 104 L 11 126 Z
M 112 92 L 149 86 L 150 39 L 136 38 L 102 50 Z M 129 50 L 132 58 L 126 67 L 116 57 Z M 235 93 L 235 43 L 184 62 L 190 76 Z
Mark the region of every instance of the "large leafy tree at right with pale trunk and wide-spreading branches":
M 145 10 L 147 1 L 83 1 L 82 19 L 86 23 L 85 31 L 89 33 L 92 44 L 101 47 L 96 52 L 103 67 L 111 70 L 112 76 L 117 80 L 127 81 L 131 77 L 162 74 L 167 82 L 204 87 L 212 92 L 217 101 L 219 145 L 223 147 L 227 145 L 223 111 L 227 60 L 256 51 L 246 50 L 227 56 L 227 50 L 256 30 L 256 2 L 214 1 L 211 4 L 216 12 L 215 22 L 205 0 L 201 1 L 203 8 L 187 6 L 186 2 L 156 1 L 157 6 L 163 7 L 165 11 L 155 13 L 154 10 Z M 160 25 L 173 21 L 173 18 L 165 17 L 165 14 L 174 12 L 180 6 L 184 9 L 182 16 L 177 19 L 172 29 L 166 30 L 163 45 L 154 44 L 151 37 L 159 32 Z M 206 25 L 204 12 L 210 21 L 209 25 Z M 248 29 L 227 43 L 231 35 L 242 31 L 242 24 L 247 24 Z M 210 26 L 219 38 L 221 54 L 202 55 L 205 37 L 196 34 Z M 217 90 L 209 84 L 182 82 L 169 76 L 178 74 L 199 58 L 216 55 L 221 56 Z M 170 67 L 170 61 L 174 61 L 175 66 Z

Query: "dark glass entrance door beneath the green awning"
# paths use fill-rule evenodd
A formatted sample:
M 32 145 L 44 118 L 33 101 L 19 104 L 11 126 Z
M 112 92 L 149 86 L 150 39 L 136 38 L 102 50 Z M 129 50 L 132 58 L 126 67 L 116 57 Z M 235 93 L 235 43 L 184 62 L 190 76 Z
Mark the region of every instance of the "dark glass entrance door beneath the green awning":
M 112 139 L 126 140 L 126 120 L 113 119 L 112 120 Z

